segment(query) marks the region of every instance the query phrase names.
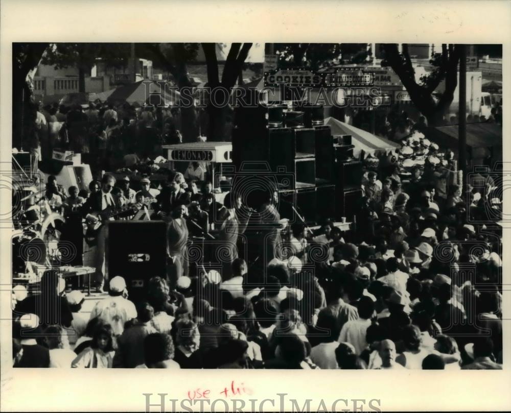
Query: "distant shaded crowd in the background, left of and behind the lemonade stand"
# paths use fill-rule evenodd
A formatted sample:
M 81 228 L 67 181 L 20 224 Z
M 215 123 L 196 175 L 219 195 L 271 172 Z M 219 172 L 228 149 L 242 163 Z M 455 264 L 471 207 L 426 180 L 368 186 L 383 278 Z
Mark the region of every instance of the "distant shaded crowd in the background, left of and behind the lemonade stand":
M 207 128 L 204 113 L 196 110 L 197 130 Z M 154 159 L 161 154 L 161 145 L 182 141 L 180 131 L 177 106 L 97 101 L 85 107 L 39 102 L 26 147 L 40 161 L 51 159 L 54 149 L 68 150 L 80 153 L 93 171 L 114 171 L 138 159 Z

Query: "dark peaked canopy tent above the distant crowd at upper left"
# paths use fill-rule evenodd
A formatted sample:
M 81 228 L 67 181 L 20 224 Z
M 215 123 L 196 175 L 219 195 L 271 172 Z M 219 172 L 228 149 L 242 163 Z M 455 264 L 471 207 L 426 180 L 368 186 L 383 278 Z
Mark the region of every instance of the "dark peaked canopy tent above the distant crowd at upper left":
M 136 102 L 169 106 L 175 105 L 179 98 L 179 92 L 171 89 L 164 82 L 156 83 L 152 80 L 141 80 L 114 89 L 107 100 L 112 103 Z

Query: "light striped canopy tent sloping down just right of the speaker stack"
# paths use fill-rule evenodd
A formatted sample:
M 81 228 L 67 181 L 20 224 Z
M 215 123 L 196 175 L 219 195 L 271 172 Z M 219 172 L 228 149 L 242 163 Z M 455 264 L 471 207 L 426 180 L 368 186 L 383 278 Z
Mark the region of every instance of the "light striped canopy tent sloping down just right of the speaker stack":
M 332 135 L 352 135 L 352 144 L 355 145 L 353 155 L 357 158 L 361 151 L 366 154 L 386 153 L 396 151 L 401 147 L 399 143 L 373 135 L 367 131 L 355 128 L 333 117 L 324 119 L 324 124 L 329 125 Z

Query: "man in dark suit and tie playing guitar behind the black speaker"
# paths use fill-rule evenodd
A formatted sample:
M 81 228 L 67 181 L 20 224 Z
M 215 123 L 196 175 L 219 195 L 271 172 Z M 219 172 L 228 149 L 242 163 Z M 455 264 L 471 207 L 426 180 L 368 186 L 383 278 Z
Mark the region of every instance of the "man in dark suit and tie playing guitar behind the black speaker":
M 109 174 L 103 175 L 101 179 L 101 190 L 95 193 L 91 193 L 83 205 L 83 214 L 87 215 L 91 212 L 100 213 L 107 209 L 119 208 L 119 199 L 112 196 L 112 188 L 115 185 L 115 178 Z M 113 218 L 109 218 L 113 220 Z M 105 279 L 108 279 L 106 273 L 106 240 L 108 239 L 108 225 L 106 223 L 101 226 L 97 238 L 96 238 L 96 253 L 95 253 L 95 264 L 96 264 L 96 286 L 98 291 L 102 293 L 105 285 Z

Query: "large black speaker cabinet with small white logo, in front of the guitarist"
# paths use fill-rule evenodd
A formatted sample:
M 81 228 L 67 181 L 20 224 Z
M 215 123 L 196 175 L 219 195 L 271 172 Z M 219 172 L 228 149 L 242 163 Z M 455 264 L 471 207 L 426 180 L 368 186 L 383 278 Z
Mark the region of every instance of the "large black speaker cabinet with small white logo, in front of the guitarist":
M 167 226 L 163 221 L 111 221 L 108 226 L 108 276 L 123 277 L 130 299 L 140 301 L 152 277 L 167 277 Z

